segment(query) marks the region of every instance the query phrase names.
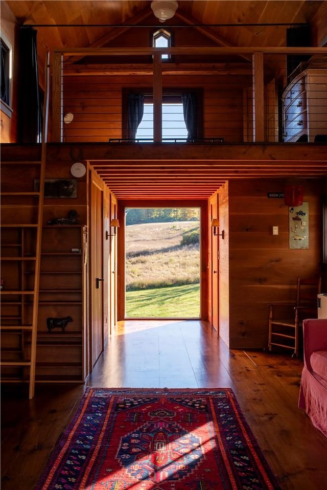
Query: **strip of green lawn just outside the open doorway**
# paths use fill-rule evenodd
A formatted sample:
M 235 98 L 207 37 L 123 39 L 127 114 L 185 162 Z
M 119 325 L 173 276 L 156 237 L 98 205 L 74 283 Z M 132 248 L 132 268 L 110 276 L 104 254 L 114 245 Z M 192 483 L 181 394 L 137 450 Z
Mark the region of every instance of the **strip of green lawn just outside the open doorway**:
M 199 318 L 200 284 L 126 292 L 127 318 Z

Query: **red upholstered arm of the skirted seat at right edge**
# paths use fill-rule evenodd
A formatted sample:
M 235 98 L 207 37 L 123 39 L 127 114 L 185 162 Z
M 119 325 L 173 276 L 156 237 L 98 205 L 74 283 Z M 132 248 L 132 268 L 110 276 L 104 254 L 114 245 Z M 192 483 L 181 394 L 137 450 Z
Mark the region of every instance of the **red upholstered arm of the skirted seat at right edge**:
M 303 349 L 305 366 L 311 371 L 310 356 L 312 352 L 327 349 L 327 319 L 310 318 L 303 320 Z

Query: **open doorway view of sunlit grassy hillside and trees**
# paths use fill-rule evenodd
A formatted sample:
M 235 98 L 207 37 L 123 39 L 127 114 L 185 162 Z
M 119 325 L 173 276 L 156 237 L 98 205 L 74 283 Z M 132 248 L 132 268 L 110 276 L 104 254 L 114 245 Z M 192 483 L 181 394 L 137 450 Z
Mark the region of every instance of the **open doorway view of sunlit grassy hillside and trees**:
M 125 208 L 125 318 L 200 318 L 200 208 Z

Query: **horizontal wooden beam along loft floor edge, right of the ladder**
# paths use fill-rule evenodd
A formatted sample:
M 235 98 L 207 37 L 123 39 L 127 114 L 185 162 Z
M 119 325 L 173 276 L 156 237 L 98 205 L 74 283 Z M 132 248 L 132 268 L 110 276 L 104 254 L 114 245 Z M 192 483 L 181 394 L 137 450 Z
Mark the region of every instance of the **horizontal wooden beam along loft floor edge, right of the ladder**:
M 212 165 L 250 164 L 275 168 L 298 165 L 301 168 L 327 167 L 326 146 L 318 143 L 275 144 L 124 144 L 124 143 L 79 143 L 48 144 L 49 159 L 69 162 L 72 152 L 79 160 L 88 160 L 97 165 L 108 162 L 134 162 L 136 167 L 174 165 L 175 162 L 191 166 L 197 162 L 209 168 Z M 148 162 L 147 162 L 148 161 Z M 151 163 L 149 162 L 151 161 Z M 101 163 L 102 162 L 102 163 Z

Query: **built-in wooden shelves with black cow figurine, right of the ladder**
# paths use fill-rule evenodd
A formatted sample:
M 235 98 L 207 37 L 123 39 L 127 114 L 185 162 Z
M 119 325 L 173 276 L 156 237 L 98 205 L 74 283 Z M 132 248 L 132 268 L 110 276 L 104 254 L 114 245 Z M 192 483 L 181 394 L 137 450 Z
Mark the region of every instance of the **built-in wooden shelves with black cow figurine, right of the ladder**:
M 85 379 L 86 257 L 85 226 L 43 227 L 36 381 Z

